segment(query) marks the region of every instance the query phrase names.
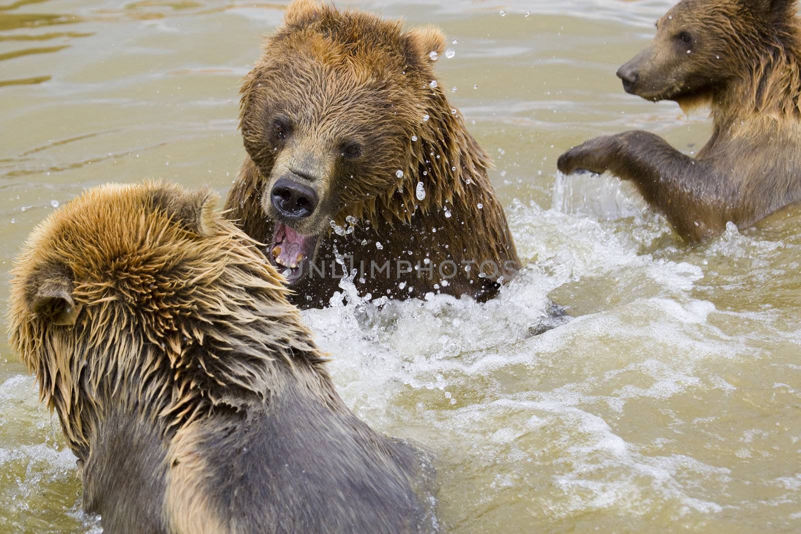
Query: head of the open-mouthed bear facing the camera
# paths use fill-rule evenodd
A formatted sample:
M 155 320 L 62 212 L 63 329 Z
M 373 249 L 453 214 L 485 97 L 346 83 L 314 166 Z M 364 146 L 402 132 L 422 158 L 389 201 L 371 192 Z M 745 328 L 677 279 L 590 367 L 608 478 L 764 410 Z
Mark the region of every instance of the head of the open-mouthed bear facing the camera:
M 405 31 L 310 0 L 288 7 L 245 79 L 240 126 L 272 222 L 268 244 L 289 283 L 336 223 L 375 215 L 376 203 L 396 219 L 425 204 L 414 189 L 427 152 L 456 137 L 433 73 L 444 47 L 433 27 Z

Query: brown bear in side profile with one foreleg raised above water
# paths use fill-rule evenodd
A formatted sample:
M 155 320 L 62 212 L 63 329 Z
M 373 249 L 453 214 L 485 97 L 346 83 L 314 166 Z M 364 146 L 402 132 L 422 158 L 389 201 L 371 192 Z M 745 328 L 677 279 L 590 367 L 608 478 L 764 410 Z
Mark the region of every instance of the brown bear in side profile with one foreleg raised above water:
M 645 131 L 592 139 L 559 170 L 632 180 L 679 235 L 750 227 L 801 200 L 801 30 L 794 0 L 682 0 L 654 42 L 618 70 L 627 92 L 711 107 L 697 158 Z

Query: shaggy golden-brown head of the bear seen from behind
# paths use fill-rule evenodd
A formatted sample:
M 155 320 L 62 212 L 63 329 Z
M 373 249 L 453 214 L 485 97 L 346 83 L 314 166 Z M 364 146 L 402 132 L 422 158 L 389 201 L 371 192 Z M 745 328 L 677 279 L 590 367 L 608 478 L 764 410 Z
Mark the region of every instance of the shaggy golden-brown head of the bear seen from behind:
M 280 275 L 217 202 L 162 183 L 95 187 L 18 256 L 10 343 L 79 459 L 110 409 L 175 429 L 263 401 L 282 355 L 316 360 Z

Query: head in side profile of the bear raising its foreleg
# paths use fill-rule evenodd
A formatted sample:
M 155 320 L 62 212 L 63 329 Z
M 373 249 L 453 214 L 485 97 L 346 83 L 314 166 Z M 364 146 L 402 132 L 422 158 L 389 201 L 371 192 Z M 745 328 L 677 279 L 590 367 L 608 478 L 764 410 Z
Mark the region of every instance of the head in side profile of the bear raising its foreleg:
M 682 107 L 710 104 L 749 80 L 760 56 L 795 46 L 795 0 L 682 0 L 650 46 L 618 70 L 626 92 Z

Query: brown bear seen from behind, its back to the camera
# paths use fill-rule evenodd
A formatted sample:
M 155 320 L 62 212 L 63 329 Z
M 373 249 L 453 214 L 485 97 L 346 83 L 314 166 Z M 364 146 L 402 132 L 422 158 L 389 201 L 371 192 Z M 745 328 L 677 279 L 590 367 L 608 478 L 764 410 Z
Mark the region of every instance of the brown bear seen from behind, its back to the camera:
M 107 185 L 55 211 L 11 282 L 11 344 L 105 532 L 429 532 L 425 458 L 343 404 L 215 195 Z

